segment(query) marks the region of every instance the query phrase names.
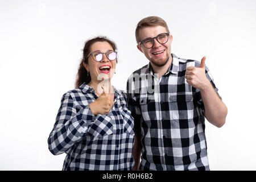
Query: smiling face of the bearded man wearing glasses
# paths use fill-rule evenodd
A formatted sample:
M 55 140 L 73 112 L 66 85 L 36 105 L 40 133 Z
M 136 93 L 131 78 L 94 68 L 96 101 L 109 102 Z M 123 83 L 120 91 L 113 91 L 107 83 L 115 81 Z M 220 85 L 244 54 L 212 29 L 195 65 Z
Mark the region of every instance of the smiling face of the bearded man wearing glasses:
M 165 27 L 145 27 L 139 31 L 139 37 L 141 40 L 144 40 L 146 38 L 154 38 L 162 33 L 167 33 Z M 139 51 L 144 53 L 151 64 L 154 64 L 156 67 L 163 67 L 171 57 L 171 43 L 172 35 L 169 35 L 168 41 L 165 44 L 160 44 L 154 39 L 154 46 L 151 48 L 146 48 L 141 43 L 137 47 Z

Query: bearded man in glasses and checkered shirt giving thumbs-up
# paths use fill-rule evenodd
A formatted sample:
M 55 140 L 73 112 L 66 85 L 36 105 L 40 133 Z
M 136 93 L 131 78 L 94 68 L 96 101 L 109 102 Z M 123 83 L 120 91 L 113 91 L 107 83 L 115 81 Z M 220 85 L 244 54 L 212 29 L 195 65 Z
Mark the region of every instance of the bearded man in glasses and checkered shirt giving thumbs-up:
M 157 16 L 142 19 L 135 35 L 150 63 L 127 81 L 136 133 L 133 169 L 209 170 L 204 121 L 221 127 L 228 109 L 206 57 L 200 63 L 171 53 L 172 35 Z

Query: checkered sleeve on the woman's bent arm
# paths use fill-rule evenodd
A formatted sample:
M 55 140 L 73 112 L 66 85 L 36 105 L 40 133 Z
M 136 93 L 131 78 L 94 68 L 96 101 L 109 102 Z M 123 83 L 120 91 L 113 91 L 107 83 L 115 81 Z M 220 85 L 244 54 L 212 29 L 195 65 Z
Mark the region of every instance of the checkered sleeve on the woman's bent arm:
M 53 155 L 59 155 L 69 150 L 81 140 L 95 119 L 89 105 L 77 111 L 73 98 L 69 93 L 65 93 L 61 98 L 55 125 L 49 134 L 49 151 Z

